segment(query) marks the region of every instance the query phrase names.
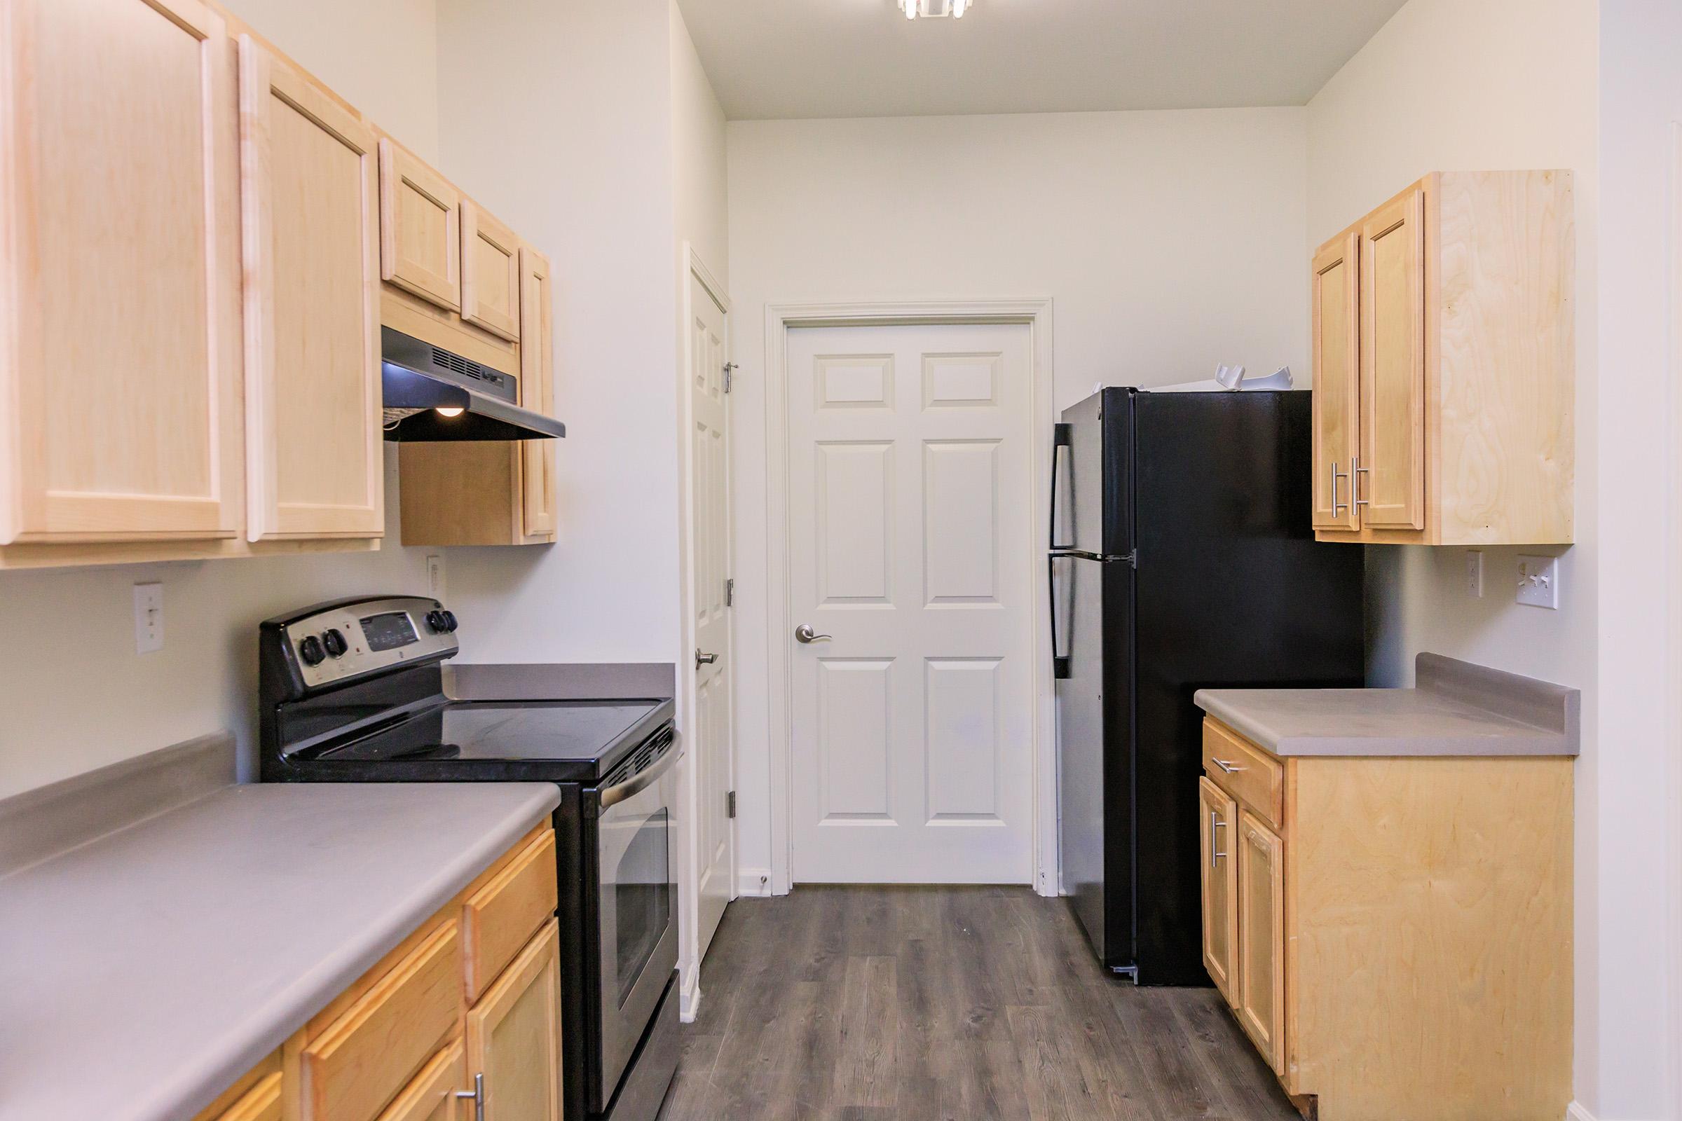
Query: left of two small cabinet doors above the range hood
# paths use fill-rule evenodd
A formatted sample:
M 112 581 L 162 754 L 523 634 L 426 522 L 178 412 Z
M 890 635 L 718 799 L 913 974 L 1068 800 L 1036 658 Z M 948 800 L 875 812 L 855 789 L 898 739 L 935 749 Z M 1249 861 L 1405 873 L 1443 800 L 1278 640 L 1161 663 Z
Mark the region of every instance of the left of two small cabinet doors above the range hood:
M 461 192 L 389 138 L 380 138 L 380 276 L 461 311 Z

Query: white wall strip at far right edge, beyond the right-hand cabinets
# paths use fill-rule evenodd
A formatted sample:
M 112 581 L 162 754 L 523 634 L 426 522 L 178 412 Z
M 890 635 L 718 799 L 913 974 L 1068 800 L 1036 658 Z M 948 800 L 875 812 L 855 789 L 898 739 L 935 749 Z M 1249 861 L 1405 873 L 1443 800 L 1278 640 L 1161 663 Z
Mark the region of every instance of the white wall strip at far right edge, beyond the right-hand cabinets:
M 1593 1082 L 1579 1067 L 1578 1096 L 1601 1121 L 1674 1119 L 1682 1118 L 1674 708 L 1682 5 L 1608 2 L 1600 29 L 1600 835 L 1598 850 L 1579 857 L 1593 860 L 1600 894 L 1598 929 L 1579 934 L 1598 951 L 1600 1017 L 1584 1024 L 1596 1035 L 1584 1054 L 1600 1062 Z

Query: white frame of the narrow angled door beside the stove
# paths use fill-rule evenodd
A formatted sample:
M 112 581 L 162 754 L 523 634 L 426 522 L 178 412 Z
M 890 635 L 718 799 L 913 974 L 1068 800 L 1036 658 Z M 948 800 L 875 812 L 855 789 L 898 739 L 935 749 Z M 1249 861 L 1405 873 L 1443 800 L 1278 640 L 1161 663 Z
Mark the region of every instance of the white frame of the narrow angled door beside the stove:
M 696 709 L 695 696 L 695 608 L 690 595 L 691 573 L 695 571 L 695 415 L 690 410 L 690 370 L 695 361 L 695 331 L 690 326 L 695 323 L 695 286 L 691 277 L 701 282 L 701 287 L 718 301 L 718 306 L 725 311 L 725 360 L 730 358 L 730 296 L 725 292 L 725 286 L 718 282 L 706 262 L 701 261 L 700 254 L 695 252 L 695 245 L 688 240 L 683 242 L 683 296 L 680 297 L 680 334 L 683 339 L 681 351 L 678 355 L 678 481 L 680 481 L 680 501 L 678 501 L 678 603 L 680 603 L 680 647 L 678 647 L 678 728 L 691 728 Z M 728 397 L 725 398 L 725 408 L 730 408 Z M 733 454 L 725 449 L 725 471 L 730 471 L 730 461 Z M 733 494 L 732 484 L 727 479 L 725 494 Z M 725 533 L 725 550 L 727 553 L 735 548 L 735 519 L 727 513 L 725 521 L 728 523 L 728 531 Z M 728 565 L 727 565 L 728 568 Z M 732 657 L 737 650 L 735 642 L 735 615 L 730 613 L 730 649 Z M 735 672 L 735 667 L 730 667 Z M 735 687 L 732 682 L 730 689 L 725 689 L 725 703 L 730 706 L 730 743 L 723 745 L 723 750 L 730 755 L 730 776 L 735 782 Z M 693 746 L 693 745 L 691 745 Z M 688 758 L 678 770 L 678 807 L 681 813 L 681 822 L 678 825 L 678 978 L 680 978 L 680 1018 L 685 1024 L 695 1022 L 695 1013 L 701 1003 L 701 961 L 700 961 L 700 945 L 696 939 L 696 931 L 700 928 L 700 884 L 701 884 L 701 845 L 700 845 L 700 782 L 696 778 L 695 768 L 695 751 L 688 751 Z M 737 834 L 730 845 L 730 897 L 737 897 L 737 864 L 740 862 L 740 830 L 735 822 L 730 822 L 730 830 Z

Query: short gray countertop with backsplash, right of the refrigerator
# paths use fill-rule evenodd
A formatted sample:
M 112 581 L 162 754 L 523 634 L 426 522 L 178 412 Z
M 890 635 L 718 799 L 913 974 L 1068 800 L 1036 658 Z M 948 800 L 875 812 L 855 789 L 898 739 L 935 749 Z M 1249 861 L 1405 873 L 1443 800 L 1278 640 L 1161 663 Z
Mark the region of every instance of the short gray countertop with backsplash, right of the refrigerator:
M 1198 708 L 1278 756 L 1576 755 L 1579 692 L 1420 654 L 1413 689 L 1199 689 Z

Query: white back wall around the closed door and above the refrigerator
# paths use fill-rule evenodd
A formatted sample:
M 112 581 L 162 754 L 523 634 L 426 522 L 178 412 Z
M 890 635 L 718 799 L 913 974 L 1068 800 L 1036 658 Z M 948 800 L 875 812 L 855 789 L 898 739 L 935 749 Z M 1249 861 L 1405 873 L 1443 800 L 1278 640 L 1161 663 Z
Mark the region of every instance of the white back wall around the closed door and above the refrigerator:
M 765 306 L 1055 301 L 1056 407 L 1095 383 L 1307 376 L 1302 109 L 733 121 L 740 862 L 770 867 Z M 782 645 L 774 647 L 779 650 Z

